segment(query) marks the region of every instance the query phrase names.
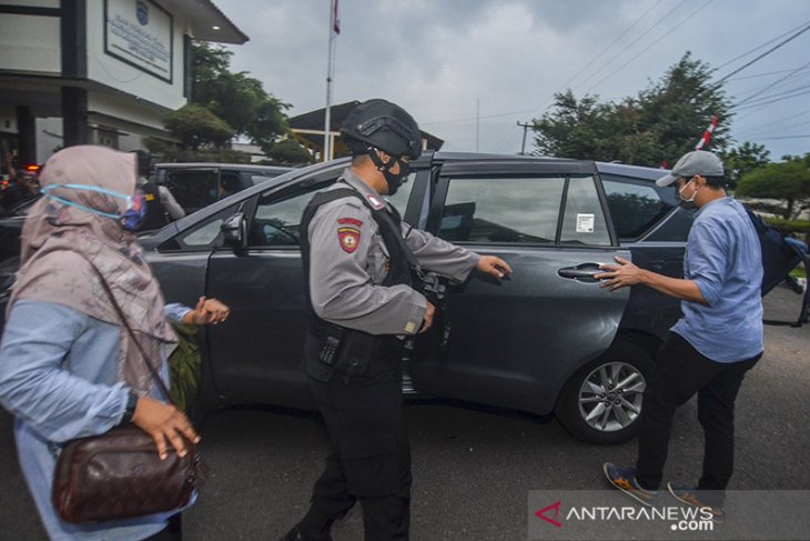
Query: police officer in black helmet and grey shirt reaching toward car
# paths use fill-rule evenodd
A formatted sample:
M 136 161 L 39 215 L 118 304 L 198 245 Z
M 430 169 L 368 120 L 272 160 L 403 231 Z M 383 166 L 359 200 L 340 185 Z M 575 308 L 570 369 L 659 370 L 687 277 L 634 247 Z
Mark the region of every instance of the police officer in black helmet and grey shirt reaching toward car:
M 401 222 L 393 196 L 418 158 L 416 121 L 385 100 L 355 108 L 341 129 L 352 164 L 316 194 L 301 223 L 311 307 L 304 362 L 332 441 L 311 508 L 283 539 L 328 540 L 360 500 L 366 540 L 408 539 L 411 451 L 402 399 L 407 337 L 429 329 L 427 270 L 464 281 L 473 269 L 512 272 Z

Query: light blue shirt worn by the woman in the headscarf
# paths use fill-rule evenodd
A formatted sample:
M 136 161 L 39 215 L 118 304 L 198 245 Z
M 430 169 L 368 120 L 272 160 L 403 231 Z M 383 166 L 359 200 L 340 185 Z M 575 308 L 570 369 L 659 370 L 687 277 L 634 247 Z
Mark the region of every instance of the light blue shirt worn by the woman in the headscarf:
M 188 311 L 181 304 L 166 305 L 170 321 L 180 321 Z M 104 433 L 121 422 L 129 389 L 118 377 L 120 332 L 119 325 L 71 308 L 27 300 L 14 303 L 6 323 L 0 403 L 16 418 L 20 467 L 52 540 L 140 540 L 166 525 L 169 514 L 69 524 L 51 503 L 60 444 Z M 161 372 L 168 382 L 166 362 Z

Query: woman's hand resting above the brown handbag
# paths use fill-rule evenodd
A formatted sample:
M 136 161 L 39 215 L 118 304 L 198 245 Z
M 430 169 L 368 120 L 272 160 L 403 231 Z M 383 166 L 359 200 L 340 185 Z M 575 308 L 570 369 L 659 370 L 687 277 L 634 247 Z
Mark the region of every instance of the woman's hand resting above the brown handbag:
M 158 455 L 166 458 L 166 442 L 174 447 L 179 457 L 185 457 L 183 437 L 200 443 L 200 437 L 191 425 L 189 418 L 172 404 L 164 404 L 150 398 L 139 398 L 132 422 L 142 428 L 158 445 Z

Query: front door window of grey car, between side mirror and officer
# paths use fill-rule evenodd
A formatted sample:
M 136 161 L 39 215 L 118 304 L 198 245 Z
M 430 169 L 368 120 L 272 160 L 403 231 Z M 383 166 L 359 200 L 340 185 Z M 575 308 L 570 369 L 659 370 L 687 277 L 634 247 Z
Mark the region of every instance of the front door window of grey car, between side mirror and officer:
M 317 184 L 281 198 L 276 193 L 260 198 L 247 232 L 247 246 L 297 248 L 301 214 L 315 192 L 325 187 Z

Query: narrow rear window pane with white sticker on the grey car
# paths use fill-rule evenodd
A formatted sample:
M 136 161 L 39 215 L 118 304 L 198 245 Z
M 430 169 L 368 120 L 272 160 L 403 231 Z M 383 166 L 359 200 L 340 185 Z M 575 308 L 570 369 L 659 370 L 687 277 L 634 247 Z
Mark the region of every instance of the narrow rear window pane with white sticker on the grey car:
M 607 219 L 593 177 L 573 177 L 568 181 L 559 241 L 563 244 L 610 246 Z

